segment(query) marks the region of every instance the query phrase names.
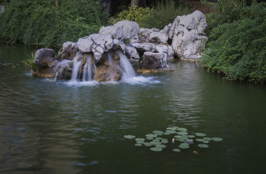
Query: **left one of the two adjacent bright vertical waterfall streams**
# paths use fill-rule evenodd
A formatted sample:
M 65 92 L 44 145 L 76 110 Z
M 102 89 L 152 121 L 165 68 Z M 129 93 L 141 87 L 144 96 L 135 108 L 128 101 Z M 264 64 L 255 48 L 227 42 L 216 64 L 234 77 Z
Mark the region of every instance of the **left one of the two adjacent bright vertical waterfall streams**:
M 80 78 L 82 59 L 83 59 L 82 54 L 77 52 L 77 55 L 72 60 L 73 67 L 72 67 L 71 81 L 77 81 Z

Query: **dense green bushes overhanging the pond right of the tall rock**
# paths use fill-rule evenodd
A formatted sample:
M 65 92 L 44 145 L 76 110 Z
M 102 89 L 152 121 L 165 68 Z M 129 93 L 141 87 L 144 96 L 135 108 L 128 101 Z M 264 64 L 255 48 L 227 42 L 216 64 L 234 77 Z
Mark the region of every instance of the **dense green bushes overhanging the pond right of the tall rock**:
M 243 7 L 237 13 L 238 18 L 210 31 L 210 42 L 201 61 L 208 72 L 222 73 L 226 80 L 264 83 L 266 3 Z

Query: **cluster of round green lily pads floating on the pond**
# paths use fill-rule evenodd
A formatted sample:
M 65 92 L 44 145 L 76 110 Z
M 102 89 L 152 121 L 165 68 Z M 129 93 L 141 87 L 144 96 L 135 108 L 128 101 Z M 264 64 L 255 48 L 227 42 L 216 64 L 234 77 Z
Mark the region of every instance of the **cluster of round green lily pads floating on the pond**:
M 194 144 L 194 142 L 199 142 L 199 147 L 201 148 L 207 148 L 209 145 L 207 145 L 210 141 L 219 142 L 222 141 L 222 138 L 213 137 L 209 138 L 206 137 L 205 133 L 190 133 L 188 134 L 188 130 L 186 128 L 179 128 L 179 127 L 168 127 L 166 128 L 166 131 L 153 131 L 150 134 L 145 135 L 145 138 L 136 138 L 134 135 L 125 135 L 124 137 L 127 139 L 135 139 L 136 140 L 136 146 L 151 146 L 150 150 L 152 151 L 162 151 L 163 148 L 166 147 L 166 144 L 169 143 L 169 139 L 163 138 L 161 136 L 165 135 L 172 135 L 171 142 L 180 142 L 178 145 L 178 148 L 172 149 L 174 152 L 180 152 L 181 149 L 187 149 L 189 148 L 191 144 Z M 194 139 L 195 138 L 195 141 Z M 193 153 L 197 154 L 197 151 L 193 151 Z

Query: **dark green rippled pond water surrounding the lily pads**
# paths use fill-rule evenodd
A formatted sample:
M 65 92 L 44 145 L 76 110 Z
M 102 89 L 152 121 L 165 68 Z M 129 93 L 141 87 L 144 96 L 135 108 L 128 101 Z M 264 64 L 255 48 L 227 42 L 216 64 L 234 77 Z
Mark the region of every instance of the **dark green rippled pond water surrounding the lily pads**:
M 54 81 L 20 63 L 32 51 L 0 44 L 0 174 L 266 173 L 266 87 L 178 60 L 128 82 Z M 169 143 L 154 152 L 124 138 L 169 125 L 223 141 L 200 148 L 196 136 L 174 152 L 176 134 L 163 135 Z

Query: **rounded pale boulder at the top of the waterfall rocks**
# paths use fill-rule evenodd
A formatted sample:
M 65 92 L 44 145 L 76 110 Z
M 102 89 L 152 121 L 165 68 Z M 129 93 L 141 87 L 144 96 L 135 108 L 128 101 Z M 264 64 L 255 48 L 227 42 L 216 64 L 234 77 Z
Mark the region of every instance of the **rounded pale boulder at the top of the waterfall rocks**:
M 119 40 L 123 39 L 139 39 L 139 24 L 133 21 L 119 21 L 113 26 L 102 27 L 99 34 L 111 35 Z

